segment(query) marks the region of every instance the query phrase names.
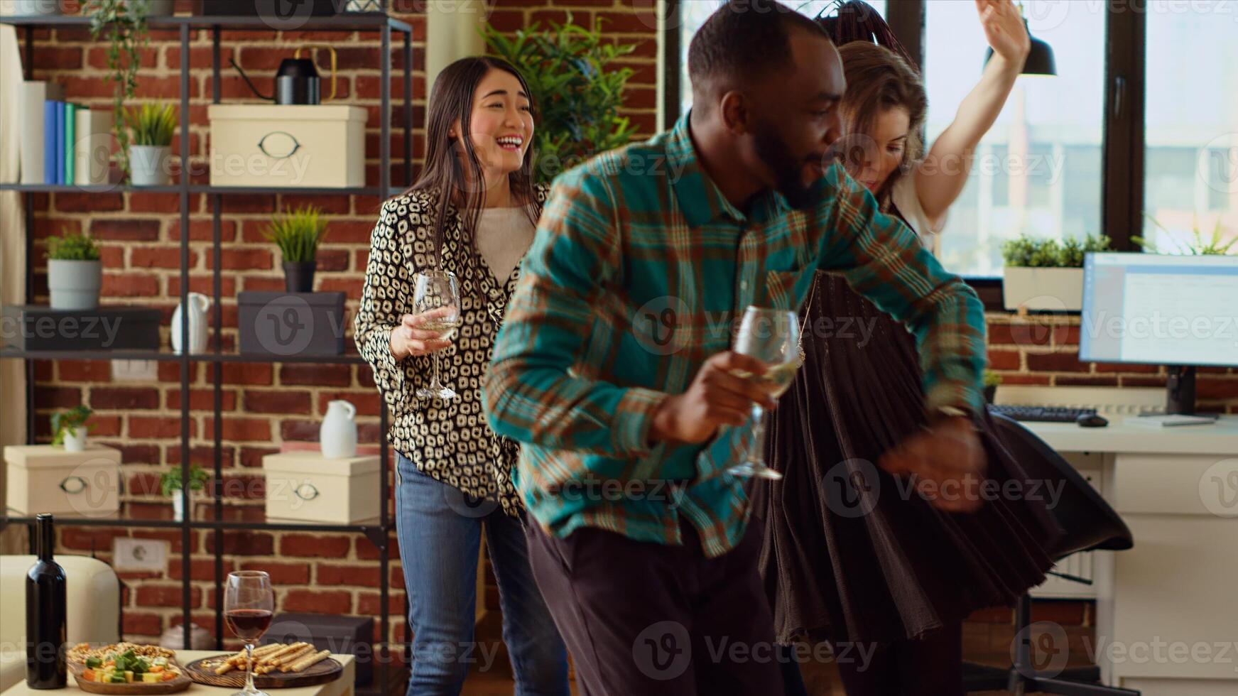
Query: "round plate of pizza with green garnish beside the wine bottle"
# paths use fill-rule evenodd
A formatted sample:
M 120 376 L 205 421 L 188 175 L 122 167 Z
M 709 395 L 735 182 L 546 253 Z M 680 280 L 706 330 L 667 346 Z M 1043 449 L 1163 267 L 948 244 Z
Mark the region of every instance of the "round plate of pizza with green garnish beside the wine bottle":
M 78 689 L 89 694 L 158 695 L 176 694 L 191 680 L 176 661 L 176 653 L 158 645 L 113 643 L 92 648 L 79 643 L 66 661 Z

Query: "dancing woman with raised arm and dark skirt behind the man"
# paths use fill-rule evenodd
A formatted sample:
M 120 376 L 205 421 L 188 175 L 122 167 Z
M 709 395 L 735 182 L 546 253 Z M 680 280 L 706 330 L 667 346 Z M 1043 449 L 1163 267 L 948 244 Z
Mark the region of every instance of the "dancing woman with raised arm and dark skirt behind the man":
M 977 0 L 977 9 L 993 58 L 927 156 L 924 84 L 885 22 L 858 0 L 821 20 L 847 78 L 836 151 L 930 248 L 1029 51 L 1010 0 Z M 878 467 L 933 417 L 911 336 L 823 274 L 802 321 L 805 364 L 771 414 L 766 442 L 785 478 L 761 482 L 755 495 L 779 642 L 831 642 L 848 696 L 961 695 L 962 620 L 1039 585 L 1060 530 L 1044 502 L 1019 497 L 1031 485 L 984 412 L 968 415 L 988 455 L 985 483 L 1013 482 L 1013 497 L 943 513 L 928 500 L 958 492 L 917 489 Z M 806 694 L 796 664 L 786 651 L 782 659 L 786 692 Z

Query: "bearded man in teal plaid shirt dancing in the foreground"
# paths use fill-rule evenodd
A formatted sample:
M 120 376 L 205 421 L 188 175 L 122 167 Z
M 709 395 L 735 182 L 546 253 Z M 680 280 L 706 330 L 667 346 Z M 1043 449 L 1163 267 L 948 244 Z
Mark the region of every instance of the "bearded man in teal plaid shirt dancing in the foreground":
M 796 310 L 818 270 L 904 321 L 933 424 L 881 464 L 945 484 L 982 455 L 980 302 L 841 166 L 842 63 L 777 4 L 692 40 L 693 109 L 556 180 L 485 380 L 536 524 L 530 559 L 583 692 L 781 694 L 743 482 L 766 391 L 734 376 L 749 305 Z M 938 499 L 966 510 L 977 497 Z M 737 649 L 737 646 L 742 646 Z

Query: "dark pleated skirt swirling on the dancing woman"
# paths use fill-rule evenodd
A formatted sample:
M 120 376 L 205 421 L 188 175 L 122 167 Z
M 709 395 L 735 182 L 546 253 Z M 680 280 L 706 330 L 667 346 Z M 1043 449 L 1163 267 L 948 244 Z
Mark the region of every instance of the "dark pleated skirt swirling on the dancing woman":
M 912 336 L 829 274 L 818 274 L 805 316 L 805 364 L 766 440 L 785 478 L 753 488 L 779 642 L 920 638 L 1040 583 L 1060 534 L 1044 503 L 942 513 L 900 494 L 906 483 L 877 466 L 926 420 Z M 988 415 L 979 421 L 987 478 L 1025 479 Z

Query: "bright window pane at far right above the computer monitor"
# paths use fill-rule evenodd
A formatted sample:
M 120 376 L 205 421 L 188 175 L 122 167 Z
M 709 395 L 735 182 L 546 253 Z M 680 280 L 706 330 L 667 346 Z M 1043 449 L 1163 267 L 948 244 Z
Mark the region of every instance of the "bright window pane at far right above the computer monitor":
M 1166 251 L 1238 239 L 1236 11 L 1149 2 L 1143 237 Z

